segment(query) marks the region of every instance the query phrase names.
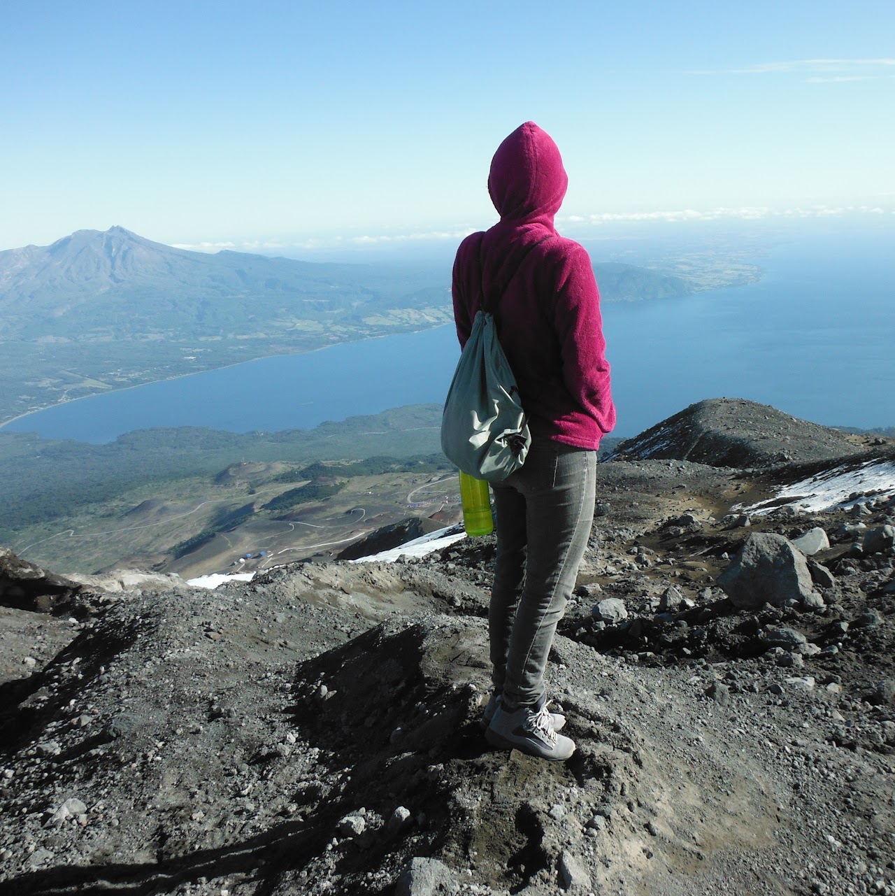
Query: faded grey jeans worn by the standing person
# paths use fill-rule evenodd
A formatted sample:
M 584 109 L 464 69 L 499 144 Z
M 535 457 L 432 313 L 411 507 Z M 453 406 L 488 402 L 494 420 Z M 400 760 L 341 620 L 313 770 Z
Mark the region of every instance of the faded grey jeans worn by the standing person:
M 556 625 L 575 587 L 597 490 L 597 452 L 546 440 L 495 485 L 497 558 L 488 609 L 495 693 L 528 706 L 544 695 Z

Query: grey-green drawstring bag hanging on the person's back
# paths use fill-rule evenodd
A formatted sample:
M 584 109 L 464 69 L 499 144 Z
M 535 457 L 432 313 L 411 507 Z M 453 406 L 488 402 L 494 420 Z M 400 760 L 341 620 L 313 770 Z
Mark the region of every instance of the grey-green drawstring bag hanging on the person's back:
M 500 482 L 519 470 L 530 446 L 516 377 L 497 339 L 494 314 L 483 292 L 444 401 L 442 451 L 469 476 Z

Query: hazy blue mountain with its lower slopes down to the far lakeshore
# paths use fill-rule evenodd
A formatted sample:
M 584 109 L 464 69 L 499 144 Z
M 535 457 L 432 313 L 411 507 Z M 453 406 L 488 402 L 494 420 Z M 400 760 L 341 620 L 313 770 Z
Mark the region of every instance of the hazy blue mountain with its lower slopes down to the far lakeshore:
M 0 252 L 0 423 L 109 389 L 452 320 L 443 266 L 163 246 L 125 228 Z

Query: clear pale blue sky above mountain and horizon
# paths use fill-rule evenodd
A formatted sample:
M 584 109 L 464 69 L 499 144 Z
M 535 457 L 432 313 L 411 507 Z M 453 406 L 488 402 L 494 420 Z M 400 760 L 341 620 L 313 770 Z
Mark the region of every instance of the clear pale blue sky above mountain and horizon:
M 895 209 L 895 4 L 0 4 L 0 249 L 282 252 L 490 226 L 534 120 L 570 236 Z

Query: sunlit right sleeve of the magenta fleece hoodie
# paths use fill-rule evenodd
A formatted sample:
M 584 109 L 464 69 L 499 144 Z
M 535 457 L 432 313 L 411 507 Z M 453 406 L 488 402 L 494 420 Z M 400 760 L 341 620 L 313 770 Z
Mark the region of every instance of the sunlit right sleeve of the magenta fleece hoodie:
M 563 380 L 572 398 L 608 433 L 615 426 L 599 291 L 583 246 L 560 264 L 554 326 L 563 359 Z

